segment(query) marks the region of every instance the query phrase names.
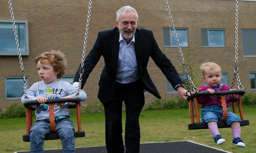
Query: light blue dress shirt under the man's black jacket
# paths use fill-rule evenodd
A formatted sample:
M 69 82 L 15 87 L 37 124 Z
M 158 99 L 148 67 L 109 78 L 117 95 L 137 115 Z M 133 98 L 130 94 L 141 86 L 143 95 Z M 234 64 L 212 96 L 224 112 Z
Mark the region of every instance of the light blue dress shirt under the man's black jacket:
M 116 81 L 119 83 L 127 84 L 139 79 L 134 43 L 134 36 L 127 45 L 121 33 L 119 34 L 119 54 L 116 77 Z

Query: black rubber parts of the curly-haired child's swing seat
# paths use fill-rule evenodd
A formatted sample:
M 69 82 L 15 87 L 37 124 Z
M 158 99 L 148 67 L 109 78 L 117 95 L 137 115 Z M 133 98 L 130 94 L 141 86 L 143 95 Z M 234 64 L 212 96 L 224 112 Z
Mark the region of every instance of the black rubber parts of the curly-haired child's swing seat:
M 80 100 L 77 98 L 48 99 L 46 104 L 48 104 L 48 103 L 66 103 L 66 102 L 72 102 L 72 103 L 79 104 Z M 31 101 L 25 102 L 23 105 L 27 108 L 27 107 L 30 107 L 30 105 L 36 105 L 36 104 L 38 104 L 37 100 L 31 100 Z M 70 104 L 68 109 L 76 108 L 77 107 L 76 104 Z M 35 111 L 35 108 L 30 107 L 30 109 L 32 111 Z M 80 114 L 79 114 L 79 116 L 80 116 Z M 85 131 L 75 131 L 74 137 L 75 138 L 85 137 Z M 56 140 L 56 139 L 60 139 L 60 138 L 59 138 L 58 134 L 55 132 L 51 132 L 51 133 L 47 134 L 45 137 L 45 140 Z M 23 141 L 30 142 L 29 134 L 23 135 Z

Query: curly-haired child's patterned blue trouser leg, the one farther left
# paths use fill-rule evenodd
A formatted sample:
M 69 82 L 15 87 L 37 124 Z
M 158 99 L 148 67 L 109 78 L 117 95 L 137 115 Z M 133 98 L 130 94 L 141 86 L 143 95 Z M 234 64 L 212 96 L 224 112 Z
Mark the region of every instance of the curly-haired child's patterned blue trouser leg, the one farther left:
M 33 153 L 43 152 L 45 136 L 50 133 L 50 123 L 37 121 L 30 129 L 30 151 Z

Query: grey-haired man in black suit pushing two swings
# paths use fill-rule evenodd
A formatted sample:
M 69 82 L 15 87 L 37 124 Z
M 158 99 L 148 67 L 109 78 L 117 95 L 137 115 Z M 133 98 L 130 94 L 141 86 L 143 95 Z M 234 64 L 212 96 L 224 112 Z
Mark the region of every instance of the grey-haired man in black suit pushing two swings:
M 121 120 L 122 101 L 124 101 L 126 153 L 138 153 L 139 114 L 145 103 L 143 89 L 161 99 L 147 71 L 149 57 L 184 99 L 186 99 L 186 90 L 175 67 L 159 49 L 152 31 L 136 29 L 138 14 L 133 7 L 124 6 L 119 9 L 115 23 L 117 27 L 114 29 L 98 33 L 93 49 L 84 61 L 81 88 L 103 56 L 105 66 L 99 80 L 98 98 L 105 109 L 107 152 L 124 152 Z M 75 86 L 78 86 L 80 67 L 74 78 Z

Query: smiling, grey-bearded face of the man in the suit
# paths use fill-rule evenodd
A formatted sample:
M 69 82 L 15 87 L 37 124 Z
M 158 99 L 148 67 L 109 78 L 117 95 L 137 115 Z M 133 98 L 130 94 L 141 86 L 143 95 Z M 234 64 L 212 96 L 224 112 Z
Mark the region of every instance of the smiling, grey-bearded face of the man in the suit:
M 134 11 L 123 11 L 120 15 L 119 21 L 115 21 L 122 37 L 127 41 L 133 38 L 136 31 L 138 21 L 136 21 L 136 14 Z

